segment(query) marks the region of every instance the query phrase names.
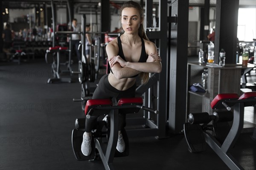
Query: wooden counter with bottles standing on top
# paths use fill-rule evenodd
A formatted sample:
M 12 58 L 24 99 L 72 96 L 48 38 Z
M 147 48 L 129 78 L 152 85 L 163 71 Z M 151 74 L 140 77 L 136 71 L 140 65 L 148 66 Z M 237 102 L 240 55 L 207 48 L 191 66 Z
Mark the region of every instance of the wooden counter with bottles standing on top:
M 207 92 L 190 92 L 189 86 L 192 85 L 190 82 L 191 73 L 196 72 L 198 76 L 198 69 L 208 69 L 208 78 L 207 78 Z M 241 83 L 241 71 L 242 69 L 249 69 L 255 67 L 254 64 L 248 64 L 247 66 L 242 66 L 241 64 L 226 64 L 223 67 L 211 67 L 207 66 L 206 63 L 188 63 L 187 64 L 187 98 L 186 98 L 186 113 L 189 114 L 189 99 L 190 95 L 197 95 L 202 97 L 202 112 L 209 112 L 212 114 L 212 108 L 210 103 L 213 98 L 220 93 L 237 93 L 240 95 L 240 83 Z M 200 79 L 201 80 L 201 79 Z M 201 84 L 200 82 L 197 82 Z

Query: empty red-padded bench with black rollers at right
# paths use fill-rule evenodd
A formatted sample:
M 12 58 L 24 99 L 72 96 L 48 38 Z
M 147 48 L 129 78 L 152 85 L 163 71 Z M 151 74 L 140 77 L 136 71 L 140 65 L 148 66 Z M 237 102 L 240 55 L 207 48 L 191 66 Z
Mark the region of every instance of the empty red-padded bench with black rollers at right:
M 202 152 L 206 150 L 207 143 L 230 169 L 243 170 L 230 150 L 243 129 L 244 107 L 249 106 L 256 106 L 256 92 L 245 92 L 240 97 L 236 93 L 218 94 L 211 102 L 212 109 L 215 109 L 212 115 L 207 112 L 190 113 L 188 122 L 184 124 L 189 151 Z M 233 121 L 232 127 L 229 121 Z

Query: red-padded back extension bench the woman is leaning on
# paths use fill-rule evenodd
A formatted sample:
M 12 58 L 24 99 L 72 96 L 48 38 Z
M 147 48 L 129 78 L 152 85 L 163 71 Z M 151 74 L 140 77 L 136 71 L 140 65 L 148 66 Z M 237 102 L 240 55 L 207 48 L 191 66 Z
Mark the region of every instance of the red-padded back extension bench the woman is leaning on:
M 92 133 L 92 151 L 89 156 L 84 156 L 81 152 L 81 143 L 85 127 L 85 118 L 76 119 L 76 129 L 72 132 L 72 146 L 76 159 L 79 161 L 96 160 L 98 156 L 104 164 L 105 170 L 113 170 L 113 158 L 129 155 L 129 141 L 125 129 L 122 135 L 125 141 L 125 151 L 119 153 L 116 150 L 118 139 L 118 115 L 119 113 L 137 113 L 140 109 L 158 114 L 154 110 L 143 106 L 142 98 L 121 98 L 117 102 L 111 99 L 90 99 L 86 102 L 84 113 L 86 118 L 92 115 L 99 116 L 98 125 Z

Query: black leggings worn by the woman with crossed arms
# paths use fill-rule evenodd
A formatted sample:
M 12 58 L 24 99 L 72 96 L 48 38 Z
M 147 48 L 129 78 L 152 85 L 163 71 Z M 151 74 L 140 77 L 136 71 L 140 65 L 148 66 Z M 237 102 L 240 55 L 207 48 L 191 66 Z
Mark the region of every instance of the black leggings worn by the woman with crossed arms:
M 116 98 L 118 101 L 120 98 L 134 98 L 135 97 L 135 91 L 136 91 L 136 83 L 131 86 L 129 89 L 120 91 L 113 86 L 108 81 L 108 74 L 102 76 L 102 78 L 99 81 L 99 85 L 93 92 L 93 99 L 112 99 L 113 97 Z M 98 116 L 92 116 L 91 118 L 86 118 L 85 121 L 85 132 L 91 132 L 93 129 L 95 129 L 97 124 L 97 118 Z M 125 127 L 125 114 L 119 114 L 119 126 L 118 130 L 122 130 Z

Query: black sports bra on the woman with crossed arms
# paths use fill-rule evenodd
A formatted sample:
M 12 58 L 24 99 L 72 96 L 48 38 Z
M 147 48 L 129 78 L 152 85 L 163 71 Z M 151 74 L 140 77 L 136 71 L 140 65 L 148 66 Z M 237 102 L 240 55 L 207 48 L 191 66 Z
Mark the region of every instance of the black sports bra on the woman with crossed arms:
M 122 42 L 121 42 L 120 37 L 117 37 L 117 44 L 118 44 L 118 48 L 119 48 L 118 55 L 119 55 L 124 61 L 126 61 L 126 60 L 125 60 L 125 55 L 124 55 L 123 50 L 122 50 Z M 144 62 L 147 61 L 148 55 L 147 55 L 146 50 L 145 50 L 145 43 L 144 43 L 143 38 L 141 38 L 141 47 L 142 47 L 142 49 L 141 49 L 141 54 L 140 54 L 140 60 L 139 60 L 138 62 L 144 63 Z M 109 67 L 109 68 L 110 68 L 110 71 L 112 72 L 111 67 Z M 113 74 L 113 72 L 112 72 L 112 74 Z M 132 76 L 131 78 L 135 78 L 135 77 L 137 77 L 137 76 L 138 76 L 138 75 L 134 75 L 134 76 Z

